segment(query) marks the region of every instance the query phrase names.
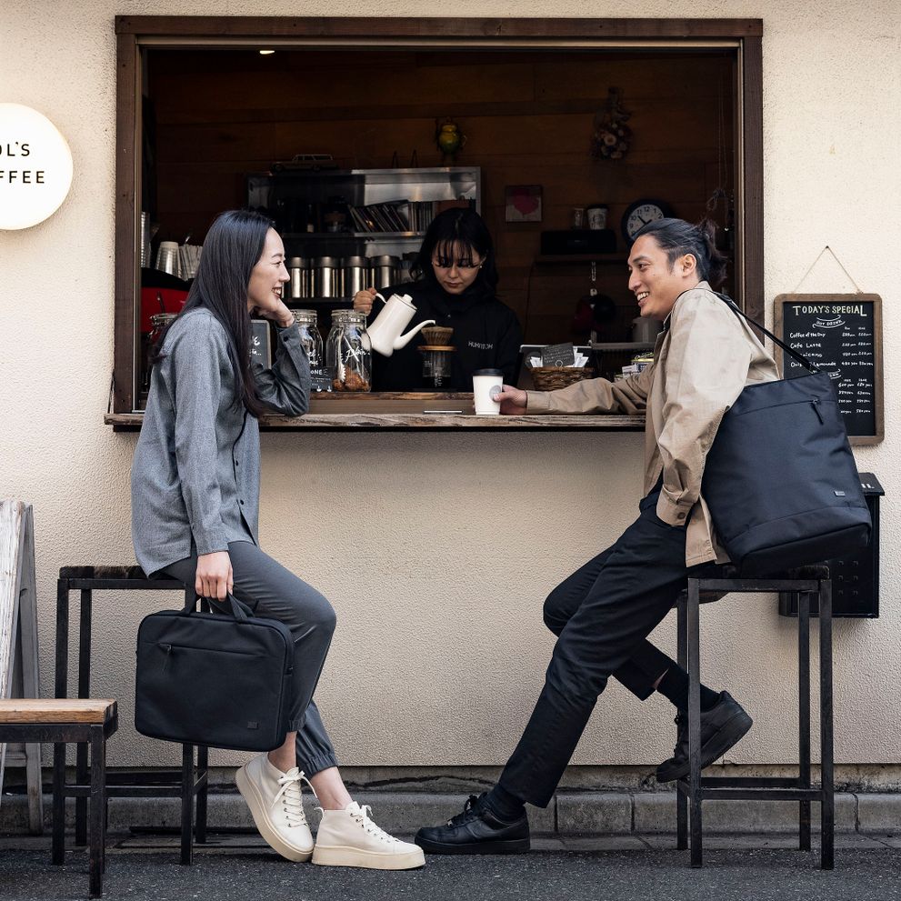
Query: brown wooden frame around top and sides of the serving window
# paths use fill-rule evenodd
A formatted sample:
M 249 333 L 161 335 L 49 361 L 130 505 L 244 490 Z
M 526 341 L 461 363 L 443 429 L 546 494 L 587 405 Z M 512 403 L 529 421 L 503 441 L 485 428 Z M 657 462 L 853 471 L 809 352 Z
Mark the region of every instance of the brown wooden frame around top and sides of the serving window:
M 737 60 L 736 287 L 764 315 L 763 21 L 761 19 L 289 18 L 119 15 L 116 33 L 113 412 L 135 408 L 138 365 L 141 48 L 394 46 L 398 49 L 734 47 Z

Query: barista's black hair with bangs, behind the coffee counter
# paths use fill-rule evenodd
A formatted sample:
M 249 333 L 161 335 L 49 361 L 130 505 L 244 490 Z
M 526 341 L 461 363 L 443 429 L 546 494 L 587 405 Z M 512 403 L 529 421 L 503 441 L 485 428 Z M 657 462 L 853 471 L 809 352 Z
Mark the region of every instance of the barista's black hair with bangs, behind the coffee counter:
M 497 291 L 495 245 L 485 220 L 475 210 L 464 207 L 445 210 L 435 216 L 425 231 L 425 238 L 413 265 L 412 275 L 426 285 L 437 287 L 438 280 L 432 268 L 433 256 L 465 259 L 474 251 L 481 258 L 482 267 L 470 290 L 494 297 Z

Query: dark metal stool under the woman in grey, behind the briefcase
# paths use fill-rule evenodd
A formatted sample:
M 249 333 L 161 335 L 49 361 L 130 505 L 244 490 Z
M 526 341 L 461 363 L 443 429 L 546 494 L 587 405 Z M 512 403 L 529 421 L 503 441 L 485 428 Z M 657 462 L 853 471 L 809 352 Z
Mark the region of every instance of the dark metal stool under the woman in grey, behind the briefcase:
M 55 694 L 62 698 L 68 691 L 69 666 L 69 592 L 81 592 L 78 618 L 78 697 L 86 698 L 91 690 L 91 616 L 93 592 L 114 591 L 180 591 L 185 603 L 195 599 L 194 589 L 172 578 L 148 579 L 140 566 L 63 566 L 56 583 L 56 668 Z M 206 841 L 207 748 L 197 746 L 195 769 L 193 745 L 182 746 L 180 770 L 155 773 L 113 773 L 107 778 L 106 797 L 180 797 L 182 800 L 181 862 L 190 864 L 194 846 L 192 826 L 198 844 Z M 75 783 L 84 784 L 88 777 L 87 746 L 75 752 Z M 62 774 L 63 777 L 60 777 Z M 87 798 L 65 786 L 65 744 L 54 745 L 54 809 L 64 804 L 66 796 L 75 795 L 75 844 L 87 842 Z M 194 798 L 197 798 L 194 823 Z M 62 861 L 59 861 L 60 863 Z

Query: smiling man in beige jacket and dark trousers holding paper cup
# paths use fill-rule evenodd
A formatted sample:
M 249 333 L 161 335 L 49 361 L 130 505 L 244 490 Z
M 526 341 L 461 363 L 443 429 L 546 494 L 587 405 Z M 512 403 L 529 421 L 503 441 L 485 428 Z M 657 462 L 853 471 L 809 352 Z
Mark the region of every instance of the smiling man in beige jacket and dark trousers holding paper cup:
M 657 779 L 688 771 L 688 677 L 647 636 L 696 567 L 726 562 L 700 495 L 706 453 L 745 385 L 779 377 L 754 332 L 711 290 L 726 268 L 713 235 L 709 222 L 662 219 L 636 236 L 629 290 L 642 316 L 664 322 L 655 362 L 644 372 L 551 392 L 505 385 L 499 395 L 508 415 L 645 412 L 645 497 L 616 544 L 547 598 L 545 622 L 558 638 L 526 730 L 491 791 L 470 797 L 445 826 L 419 830 L 415 841 L 425 851 L 527 851 L 524 805 L 547 806 L 609 676 L 642 700 L 656 690 L 672 701 L 679 711 L 676 750 L 657 768 Z M 750 716 L 728 693 L 701 686 L 702 766 L 750 727 Z

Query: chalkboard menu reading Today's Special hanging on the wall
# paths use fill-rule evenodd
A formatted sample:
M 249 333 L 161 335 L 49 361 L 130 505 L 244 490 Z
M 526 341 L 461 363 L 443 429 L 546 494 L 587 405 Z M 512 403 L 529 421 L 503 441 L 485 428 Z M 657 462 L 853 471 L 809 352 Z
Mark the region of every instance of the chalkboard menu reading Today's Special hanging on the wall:
M 833 380 L 852 444 L 885 436 L 882 397 L 882 299 L 875 294 L 776 297 L 776 335 Z M 786 378 L 806 369 L 776 347 Z

